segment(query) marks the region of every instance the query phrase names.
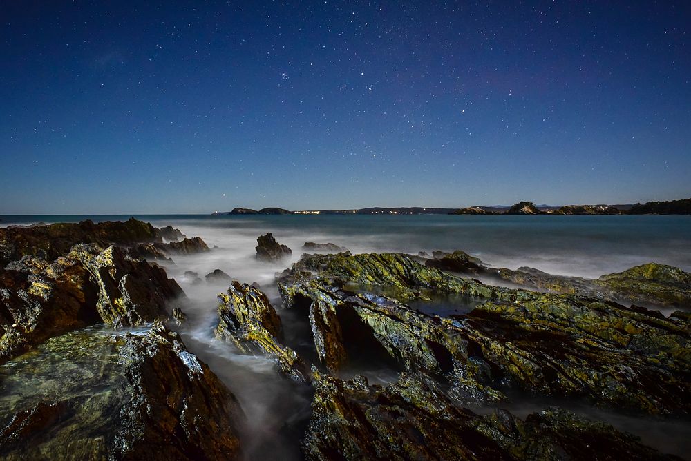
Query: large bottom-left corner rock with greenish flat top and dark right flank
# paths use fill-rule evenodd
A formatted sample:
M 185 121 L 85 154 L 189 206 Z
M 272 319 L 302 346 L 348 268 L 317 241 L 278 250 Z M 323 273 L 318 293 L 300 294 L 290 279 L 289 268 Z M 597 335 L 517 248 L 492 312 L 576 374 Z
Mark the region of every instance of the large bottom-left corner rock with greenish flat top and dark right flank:
M 0 367 L 0 458 L 238 459 L 244 415 L 176 333 L 54 337 Z

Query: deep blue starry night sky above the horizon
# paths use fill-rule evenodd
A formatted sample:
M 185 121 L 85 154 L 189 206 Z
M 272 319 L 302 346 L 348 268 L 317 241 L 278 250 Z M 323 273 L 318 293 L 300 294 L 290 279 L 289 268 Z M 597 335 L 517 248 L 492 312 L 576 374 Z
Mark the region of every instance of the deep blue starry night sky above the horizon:
M 0 213 L 691 197 L 688 1 L 3 1 L 0 21 Z

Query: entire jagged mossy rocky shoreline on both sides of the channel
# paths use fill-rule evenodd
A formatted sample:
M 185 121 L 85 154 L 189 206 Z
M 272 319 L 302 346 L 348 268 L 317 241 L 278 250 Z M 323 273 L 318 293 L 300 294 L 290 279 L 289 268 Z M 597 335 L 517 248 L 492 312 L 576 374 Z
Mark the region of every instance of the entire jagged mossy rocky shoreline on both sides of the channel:
M 228 286 L 209 306 L 220 344 L 266 357 L 311 395 L 306 459 L 679 459 L 558 406 L 521 418 L 500 408 L 545 398 L 688 420 L 690 273 L 650 263 L 584 279 L 460 250 L 303 250 L 316 253 L 276 274 L 278 304 L 253 280 L 206 278 Z M 136 219 L 0 228 L 0 457 L 243 459 L 233 383 L 176 332 L 187 298 L 158 264 L 213 251 Z M 259 261 L 291 254 L 258 238 Z M 450 296 L 473 308 L 414 307 Z M 288 315 L 309 332 L 301 344 Z M 370 384 L 379 369 L 394 377 Z

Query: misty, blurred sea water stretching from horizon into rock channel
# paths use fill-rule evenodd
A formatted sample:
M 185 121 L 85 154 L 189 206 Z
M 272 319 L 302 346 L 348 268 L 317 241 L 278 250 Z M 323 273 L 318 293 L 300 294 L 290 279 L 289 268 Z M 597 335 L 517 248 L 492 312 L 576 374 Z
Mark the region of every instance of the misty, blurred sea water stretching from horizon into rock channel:
M 312 398 L 307 386 L 294 384 L 274 370 L 264 357 L 237 353 L 233 346 L 214 338 L 218 322 L 216 296 L 227 282 L 207 282 L 205 275 L 220 269 L 233 279 L 257 282 L 277 308 L 285 328 L 287 345 L 305 360 L 316 362 L 311 331 L 305 315 L 281 308 L 274 282 L 277 272 L 296 262 L 305 242 L 332 242 L 352 253 L 394 251 L 417 254 L 433 250 L 461 249 L 496 267 L 531 266 L 560 275 L 596 278 L 646 262 L 659 262 L 691 271 L 690 216 L 362 216 L 362 215 L 267 215 L 200 216 L 135 215 L 154 226 L 179 228 L 187 237 L 199 236 L 211 251 L 196 255 L 172 255 L 174 264 L 162 263 L 187 295 L 181 307 L 189 316 L 180 328 L 190 351 L 207 362 L 240 400 L 247 415 L 244 451 L 247 459 L 300 459 L 299 439 L 310 416 Z M 3 216 L 0 225 L 33 222 L 65 222 L 85 216 Z M 94 221 L 127 219 L 128 216 L 91 216 Z M 276 240 L 293 250 L 281 264 L 255 259 L 256 237 L 272 232 Z M 194 283 L 186 271 L 198 273 Z M 476 300 L 447 297 L 435 303 L 410 303 L 430 315 L 464 313 Z M 665 312 L 665 314 L 668 314 Z M 397 371 L 382 363 L 361 372 L 370 383 L 386 384 Z M 643 442 L 665 453 L 691 453 L 688 420 L 641 417 L 594 409 L 582 402 L 558 402 L 520 398 L 504 406 L 517 415 L 559 404 L 576 413 L 605 420 L 641 436 Z M 476 409 L 487 411 L 487 409 Z

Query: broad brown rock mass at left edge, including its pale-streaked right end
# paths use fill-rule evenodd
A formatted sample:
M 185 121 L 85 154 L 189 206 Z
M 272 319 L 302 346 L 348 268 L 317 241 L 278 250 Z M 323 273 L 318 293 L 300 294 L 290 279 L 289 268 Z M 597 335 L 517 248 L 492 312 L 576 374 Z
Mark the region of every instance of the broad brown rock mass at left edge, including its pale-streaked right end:
M 23 257 L 0 269 L 0 362 L 48 337 L 97 322 L 139 325 L 169 316 L 182 295 L 165 271 L 116 246 L 78 244 L 46 262 Z

